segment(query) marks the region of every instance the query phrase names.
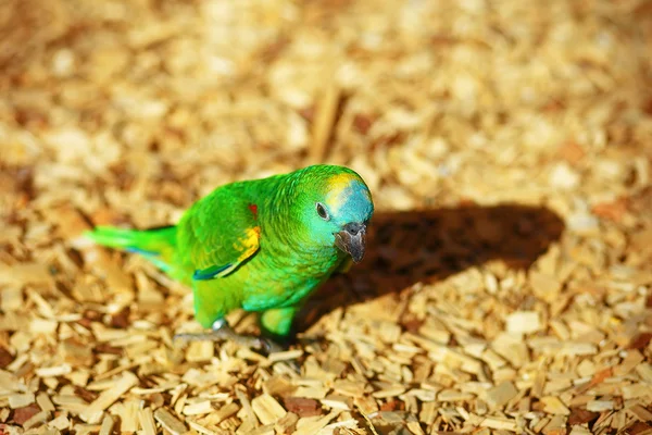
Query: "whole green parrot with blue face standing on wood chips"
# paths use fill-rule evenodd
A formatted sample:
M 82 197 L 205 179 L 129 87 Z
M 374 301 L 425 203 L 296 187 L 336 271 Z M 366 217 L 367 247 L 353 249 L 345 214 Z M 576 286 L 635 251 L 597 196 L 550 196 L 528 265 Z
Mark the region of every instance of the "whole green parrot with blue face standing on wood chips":
M 302 302 L 331 274 L 364 256 L 374 213 L 368 187 L 354 171 L 313 165 L 268 178 L 217 187 L 177 225 L 145 231 L 98 226 L 95 243 L 137 252 L 190 287 L 202 334 L 185 339 L 240 337 L 224 316 L 261 312 L 265 335 L 285 338 Z M 243 340 L 244 338 L 250 340 Z

